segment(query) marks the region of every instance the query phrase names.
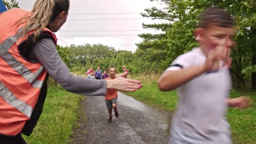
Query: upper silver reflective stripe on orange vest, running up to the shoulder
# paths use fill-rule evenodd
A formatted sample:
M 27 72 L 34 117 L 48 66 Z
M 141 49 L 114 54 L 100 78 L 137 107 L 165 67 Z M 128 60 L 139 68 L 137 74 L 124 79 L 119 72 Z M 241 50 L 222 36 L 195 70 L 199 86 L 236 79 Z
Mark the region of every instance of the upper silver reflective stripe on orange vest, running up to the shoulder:
M 39 70 L 35 74 L 33 74 L 30 70 L 28 70 L 21 62 L 19 62 L 16 58 L 14 58 L 8 50 L 12 47 L 12 45 L 18 41 L 19 39 L 19 32 L 22 28 L 18 30 L 18 32 L 14 36 L 8 37 L 4 40 L 3 43 L 0 44 L 0 56 L 14 69 L 16 70 L 21 76 L 23 76 L 28 82 L 31 83 L 31 86 L 34 88 L 42 88 L 43 81 L 37 80 L 37 78 L 42 74 L 44 71 L 43 67 L 40 67 Z

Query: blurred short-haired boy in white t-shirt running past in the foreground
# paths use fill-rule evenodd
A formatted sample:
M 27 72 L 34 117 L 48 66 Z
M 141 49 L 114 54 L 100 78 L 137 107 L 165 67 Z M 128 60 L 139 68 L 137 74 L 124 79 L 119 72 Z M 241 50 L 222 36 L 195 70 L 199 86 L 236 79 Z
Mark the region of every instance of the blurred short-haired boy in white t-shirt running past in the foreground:
M 218 7 L 208 8 L 196 30 L 200 48 L 178 56 L 159 78 L 161 91 L 179 88 L 169 144 L 232 144 L 226 110 L 250 103 L 245 96 L 228 98 L 233 34 L 231 15 Z

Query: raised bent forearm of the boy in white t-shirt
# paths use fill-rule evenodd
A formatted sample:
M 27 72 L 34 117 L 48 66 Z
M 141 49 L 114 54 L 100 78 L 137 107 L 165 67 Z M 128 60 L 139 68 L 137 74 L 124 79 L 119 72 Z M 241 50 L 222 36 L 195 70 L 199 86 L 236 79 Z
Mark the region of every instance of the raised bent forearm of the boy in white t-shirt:
M 171 91 L 189 82 L 193 78 L 205 72 L 204 65 L 198 65 L 180 70 L 167 70 L 158 80 L 158 87 L 161 91 Z

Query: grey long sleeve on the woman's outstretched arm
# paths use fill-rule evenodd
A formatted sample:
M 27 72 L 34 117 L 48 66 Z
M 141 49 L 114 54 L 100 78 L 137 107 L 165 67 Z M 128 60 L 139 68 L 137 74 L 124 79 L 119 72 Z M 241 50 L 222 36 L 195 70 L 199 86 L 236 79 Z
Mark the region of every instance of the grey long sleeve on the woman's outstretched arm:
M 80 95 L 105 95 L 106 81 L 92 80 L 70 73 L 52 39 L 39 40 L 32 49 L 34 57 L 65 90 Z M 33 56 L 31 56 L 33 57 Z

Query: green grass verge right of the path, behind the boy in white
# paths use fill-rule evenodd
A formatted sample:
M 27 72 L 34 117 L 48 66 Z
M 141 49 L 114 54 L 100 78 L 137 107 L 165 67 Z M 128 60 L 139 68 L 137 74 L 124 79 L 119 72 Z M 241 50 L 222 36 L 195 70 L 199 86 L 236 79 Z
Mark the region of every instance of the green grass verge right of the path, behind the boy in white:
M 159 75 L 140 74 L 130 76 L 130 78 L 140 80 L 143 83 L 143 88 L 135 92 L 126 92 L 126 94 L 161 110 L 166 110 L 171 113 L 176 110 L 178 101 L 177 93 L 176 91 L 161 92 L 156 84 Z M 237 92 L 233 89 L 230 93 L 230 97 L 236 98 L 242 94 L 249 96 L 253 99 L 254 103 L 256 102 L 255 91 Z M 256 144 L 256 104 L 245 110 L 229 108 L 226 116 L 231 125 L 234 144 Z

